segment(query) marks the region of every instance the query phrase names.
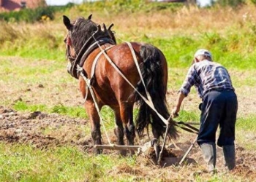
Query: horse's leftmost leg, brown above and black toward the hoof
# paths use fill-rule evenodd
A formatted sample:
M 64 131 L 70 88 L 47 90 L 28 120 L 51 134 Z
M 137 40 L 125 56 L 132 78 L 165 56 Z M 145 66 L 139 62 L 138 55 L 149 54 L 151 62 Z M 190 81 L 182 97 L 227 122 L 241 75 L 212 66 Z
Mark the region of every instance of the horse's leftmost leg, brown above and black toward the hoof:
M 102 135 L 100 132 L 100 119 L 97 109 L 94 106 L 94 103 L 86 100 L 86 111 L 89 115 L 91 123 L 91 138 L 94 145 L 102 145 Z M 101 154 L 102 149 L 94 149 L 94 154 Z

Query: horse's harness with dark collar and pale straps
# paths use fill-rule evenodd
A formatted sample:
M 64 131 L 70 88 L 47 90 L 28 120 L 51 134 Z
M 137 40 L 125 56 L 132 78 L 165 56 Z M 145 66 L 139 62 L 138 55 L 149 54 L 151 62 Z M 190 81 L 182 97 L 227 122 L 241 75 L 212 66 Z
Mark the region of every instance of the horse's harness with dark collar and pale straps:
M 105 48 L 105 49 L 102 49 L 102 47 L 100 47 L 100 46 L 102 44 L 106 44 L 106 43 L 109 43 L 110 46 Z M 128 46 L 129 46 L 129 48 L 132 52 L 132 56 L 135 60 L 135 64 L 136 64 L 136 66 L 138 68 L 138 71 L 139 71 L 140 68 L 138 66 L 138 60 L 136 59 L 135 52 L 132 48 L 132 45 L 129 42 L 127 42 L 127 44 L 128 44 Z M 94 79 L 94 73 L 95 73 L 95 69 L 96 69 L 97 61 L 99 60 L 99 57 L 101 55 L 105 55 L 105 58 L 107 58 L 109 63 L 114 68 L 116 68 L 116 65 L 112 62 L 112 60 L 110 60 L 110 58 L 106 54 L 106 51 L 110 50 L 115 45 L 116 45 L 116 42 L 113 41 L 113 39 L 110 38 L 110 36 L 108 34 L 108 31 L 103 32 L 103 31 L 101 31 L 100 26 L 98 26 L 97 31 L 94 32 L 89 37 L 88 40 L 86 40 L 85 44 L 83 44 L 83 47 L 80 49 L 76 58 L 72 58 L 72 56 L 70 56 L 69 46 L 67 46 L 67 58 L 69 59 L 69 63 L 70 63 L 70 65 L 67 67 L 67 70 L 68 70 L 69 74 L 71 74 L 71 76 L 75 77 L 76 79 L 78 79 L 79 76 L 82 76 L 83 79 L 86 81 L 87 87 L 86 87 L 86 96 L 85 96 L 84 100 L 87 99 L 89 89 L 90 89 L 91 95 L 94 95 L 94 92 L 91 90 L 91 82 Z M 86 58 L 90 55 L 90 53 L 93 50 L 95 50 L 96 48 L 99 48 L 100 52 L 94 58 L 94 62 L 91 66 L 91 79 L 89 79 L 89 78 L 87 78 L 86 73 L 84 73 L 85 71 L 83 70 L 83 64 L 84 64 Z M 121 71 L 119 71 L 118 68 L 116 68 L 116 71 L 118 71 L 118 73 L 121 74 Z M 139 71 L 139 74 L 140 74 L 140 71 Z M 123 76 L 123 78 L 125 80 L 127 80 L 127 78 L 123 74 L 121 74 L 121 76 Z M 141 74 L 140 74 L 140 76 L 141 76 Z M 143 81 L 142 78 L 141 78 L 141 80 Z M 127 82 L 131 85 L 131 87 L 133 87 L 133 89 L 135 89 L 135 91 L 137 91 L 136 88 L 128 80 L 127 80 Z M 138 94 L 143 98 L 143 100 L 148 104 L 148 106 L 150 106 L 157 113 L 157 115 L 160 117 L 160 119 L 162 119 L 162 121 L 165 122 L 165 124 L 167 125 L 167 130 L 168 130 L 169 122 L 170 122 L 171 117 L 169 119 L 165 119 L 160 114 L 158 114 L 158 112 L 154 108 L 154 104 L 152 103 L 151 96 L 149 94 L 147 94 L 147 98 L 144 98 L 143 95 L 140 94 L 140 92 L 138 92 Z M 94 99 L 94 103 L 97 103 L 96 98 L 94 96 L 92 98 Z M 97 104 L 95 104 L 95 106 L 97 107 Z M 98 111 L 98 114 L 99 114 L 99 108 L 97 108 L 97 111 Z M 100 114 L 99 114 L 99 116 L 100 116 Z M 181 129 L 186 130 L 187 132 L 197 133 L 199 131 L 196 127 L 192 127 L 190 124 L 187 124 L 185 122 L 176 122 L 176 121 L 174 121 L 174 123 L 177 127 L 180 127 Z M 183 124 L 184 126 L 181 126 L 181 124 Z M 167 133 L 167 130 L 166 130 L 166 133 Z M 107 138 L 108 138 L 108 136 L 107 136 Z

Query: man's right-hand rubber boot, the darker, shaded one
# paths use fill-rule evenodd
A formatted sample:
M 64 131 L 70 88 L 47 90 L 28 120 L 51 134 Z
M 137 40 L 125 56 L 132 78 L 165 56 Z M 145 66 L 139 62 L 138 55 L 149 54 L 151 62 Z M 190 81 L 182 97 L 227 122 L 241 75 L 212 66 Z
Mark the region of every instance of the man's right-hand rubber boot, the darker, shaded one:
M 235 146 L 223 146 L 222 149 L 225 159 L 225 166 L 228 170 L 233 170 L 233 168 L 236 166 Z

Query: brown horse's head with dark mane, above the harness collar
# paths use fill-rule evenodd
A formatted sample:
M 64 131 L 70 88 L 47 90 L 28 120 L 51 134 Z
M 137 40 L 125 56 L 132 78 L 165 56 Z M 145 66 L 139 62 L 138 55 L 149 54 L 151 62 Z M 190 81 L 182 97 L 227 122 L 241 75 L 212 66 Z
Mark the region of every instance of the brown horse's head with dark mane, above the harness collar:
M 70 71 L 70 67 L 74 65 L 74 60 L 80 56 L 81 52 L 83 53 L 83 48 L 86 42 L 95 39 L 95 37 L 92 36 L 95 35 L 96 32 L 97 36 L 100 36 L 101 34 L 104 36 L 107 35 L 108 38 L 116 44 L 116 38 L 113 31 L 111 31 L 113 24 L 111 24 L 108 29 L 105 24 L 103 24 L 104 30 L 102 31 L 100 25 L 91 20 L 91 16 L 92 15 L 89 15 L 87 19 L 78 17 L 74 22 L 71 22 L 67 16 L 63 16 L 63 23 L 68 31 L 67 36 L 64 39 L 67 48 L 66 56 L 69 60 L 68 71 Z

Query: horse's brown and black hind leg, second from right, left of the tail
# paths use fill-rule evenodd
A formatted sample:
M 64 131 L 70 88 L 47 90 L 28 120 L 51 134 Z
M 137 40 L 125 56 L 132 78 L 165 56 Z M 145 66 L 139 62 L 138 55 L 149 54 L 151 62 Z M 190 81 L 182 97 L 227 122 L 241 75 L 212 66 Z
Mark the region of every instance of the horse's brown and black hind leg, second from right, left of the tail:
M 132 114 L 133 104 L 131 103 L 121 103 L 120 106 L 120 116 L 124 123 L 124 134 L 127 137 L 127 145 L 134 146 L 135 139 L 135 124 L 133 123 Z M 133 150 L 130 150 L 131 154 L 135 154 Z

